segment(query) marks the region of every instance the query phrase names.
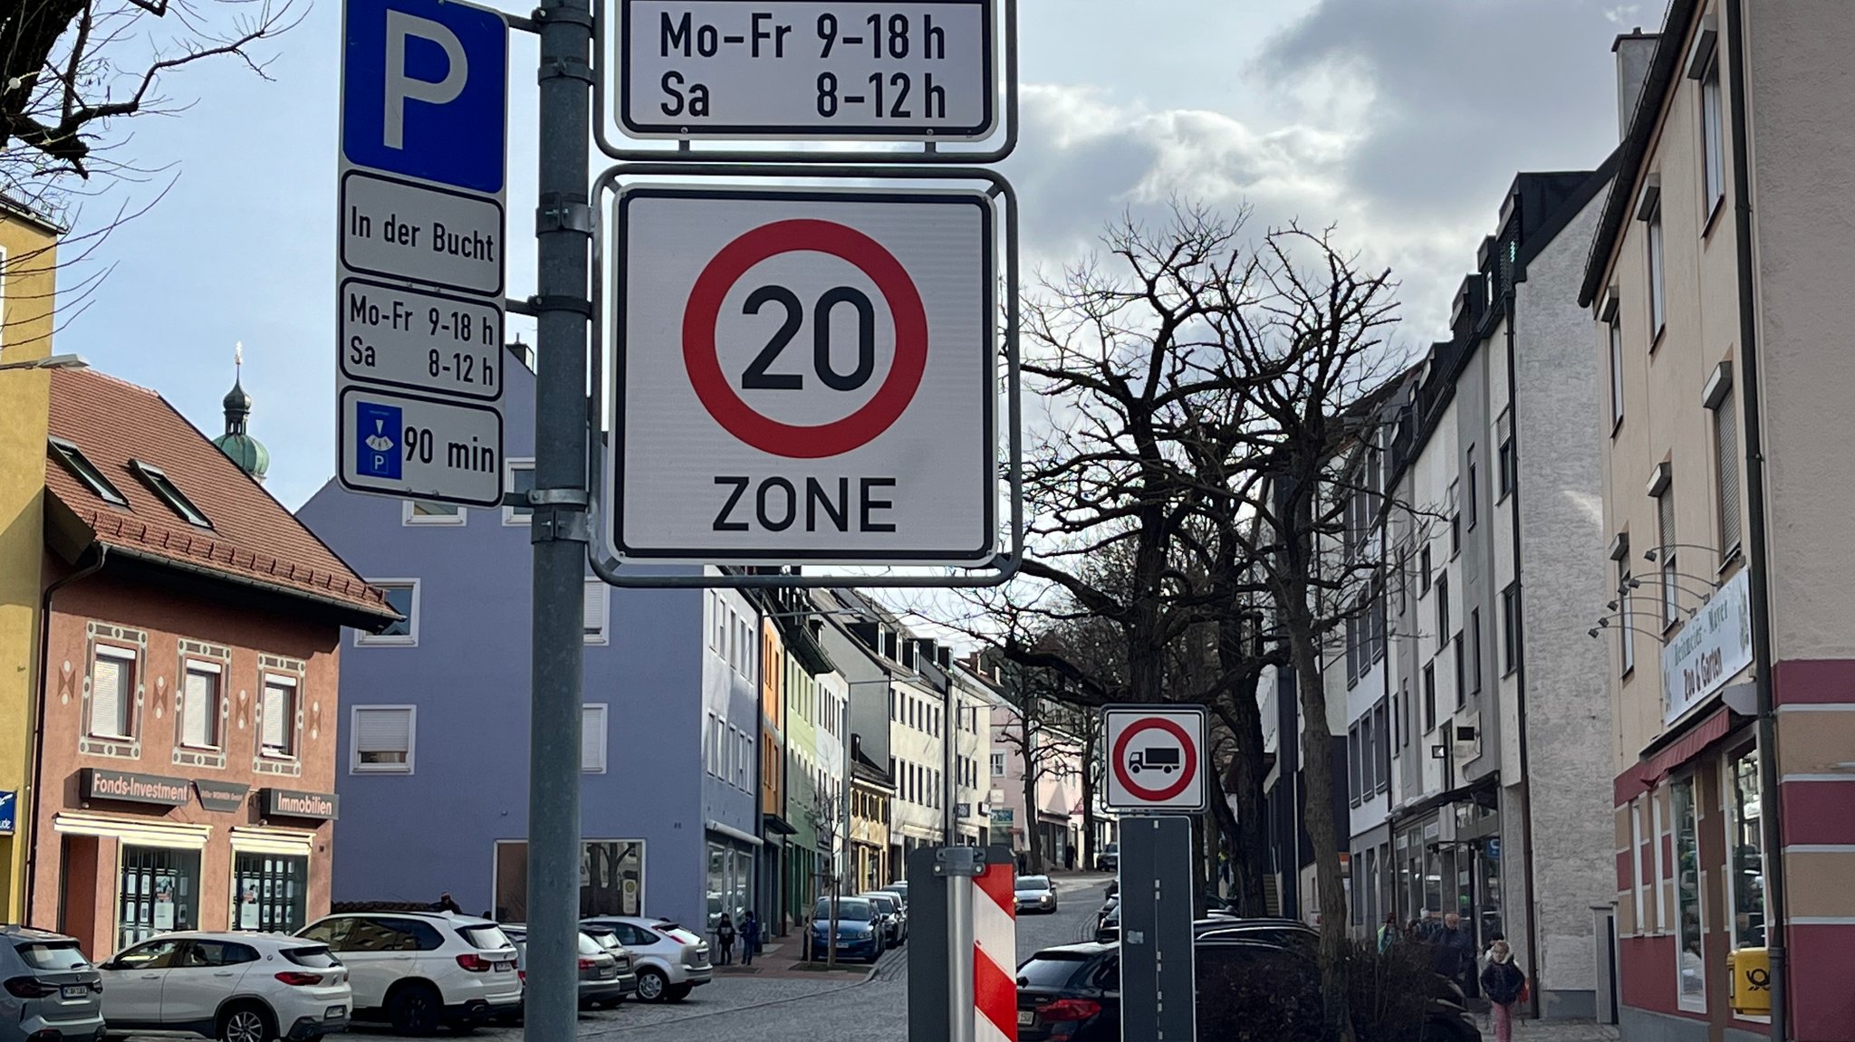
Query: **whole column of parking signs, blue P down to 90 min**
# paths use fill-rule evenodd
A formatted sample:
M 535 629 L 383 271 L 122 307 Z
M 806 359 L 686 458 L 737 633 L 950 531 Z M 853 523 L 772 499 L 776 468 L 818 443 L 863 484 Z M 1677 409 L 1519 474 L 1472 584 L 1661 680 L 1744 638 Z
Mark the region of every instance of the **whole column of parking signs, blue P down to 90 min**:
M 503 347 L 508 319 L 503 297 L 508 274 L 508 33 L 506 15 L 467 0 L 343 0 L 334 404 L 336 480 L 349 491 L 464 506 L 503 502 L 503 388 L 510 365 Z M 423 65 L 414 63 L 412 39 L 425 43 Z M 391 54 L 395 46 L 403 48 L 397 56 Z M 440 54 L 441 61 L 432 61 Z M 351 193 L 356 184 L 371 185 L 365 200 L 380 206 L 364 213 L 365 202 Z M 432 221 L 440 217 L 453 224 L 445 228 L 447 237 L 456 239 L 449 250 L 429 248 L 440 232 Z M 464 232 L 456 232 L 453 217 L 469 217 Z M 421 235 L 429 235 L 427 241 L 421 243 Z M 484 241 L 477 241 L 479 235 Z M 356 245 L 369 247 L 362 252 L 371 256 L 351 256 Z M 486 245 L 490 256 L 484 256 Z M 393 319 L 393 326 L 351 323 L 351 287 L 419 297 L 434 310 L 449 306 L 466 315 L 473 334 L 493 315 L 493 330 L 484 334 L 493 343 L 482 345 L 479 336 L 460 339 L 449 324 L 421 332 L 416 310 Z M 397 324 L 401 319 L 404 326 Z M 365 330 L 377 332 L 375 343 L 354 347 L 351 341 L 362 341 Z M 351 363 L 351 347 L 365 350 L 365 360 Z M 401 356 L 423 358 L 429 350 L 441 352 L 441 360 L 453 352 L 471 354 L 473 362 L 488 354 L 499 378 L 493 388 L 466 389 L 454 373 L 434 362 L 440 369 L 427 382 L 419 367 Z M 375 352 L 391 354 L 397 365 L 369 371 Z M 408 375 L 417 376 L 408 382 Z M 434 441 L 469 445 L 466 458 L 471 464 L 482 458 L 475 436 L 490 430 L 480 413 L 493 413 L 495 439 L 482 445 L 493 451 L 493 488 L 480 465 L 458 467 L 449 458 L 441 467 L 421 465 L 429 482 L 441 488 L 419 489 L 414 488 L 419 482 L 401 480 L 397 473 L 369 475 L 356 460 L 365 436 L 358 408 L 351 404 L 356 397 L 367 399 L 380 415 L 393 408 L 421 410 L 434 421 L 425 432 Z M 403 439 L 404 432 L 393 434 L 395 452 Z M 464 480 L 453 480 L 458 477 Z

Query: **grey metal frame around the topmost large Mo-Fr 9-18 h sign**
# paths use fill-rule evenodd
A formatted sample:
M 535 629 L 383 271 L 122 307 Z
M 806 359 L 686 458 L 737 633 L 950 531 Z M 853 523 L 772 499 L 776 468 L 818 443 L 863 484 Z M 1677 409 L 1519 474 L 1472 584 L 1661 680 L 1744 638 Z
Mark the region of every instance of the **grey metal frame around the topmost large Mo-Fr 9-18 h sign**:
M 631 59 L 631 44 L 634 32 L 634 13 L 633 7 L 638 4 L 649 4 L 660 0 L 618 0 L 618 41 L 614 48 L 614 65 L 618 67 L 618 126 L 623 130 L 625 137 L 636 141 L 911 141 L 911 143 L 978 143 L 998 133 L 1000 128 L 1000 104 L 998 104 L 998 83 L 1005 78 L 1004 54 L 1000 52 L 1000 32 L 998 32 L 998 9 L 1000 0 L 902 0 L 911 6 L 920 7 L 978 7 L 979 9 L 979 46 L 983 48 L 983 63 L 979 70 L 979 100 L 981 115 L 979 122 L 972 126 L 950 126 L 946 130 L 911 126 L 905 130 L 892 130 L 894 122 L 844 122 L 844 124 L 684 124 L 677 119 L 664 117 L 662 121 L 636 121 L 633 113 L 633 104 L 644 104 L 633 95 L 631 70 L 634 61 Z M 783 0 L 705 0 L 710 4 L 733 4 L 746 9 L 761 7 L 768 9 Z M 785 0 L 792 2 L 792 0 Z M 824 0 L 829 2 L 829 0 Z M 885 7 L 877 2 L 868 0 L 840 0 L 846 4 L 864 4 L 872 9 Z M 740 37 L 723 37 L 727 44 L 740 44 Z M 855 43 L 851 43 L 855 41 Z M 861 37 L 846 37 L 844 44 L 861 44 Z M 755 61 L 761 57 L 757 56 Z M 892 59 L 892 61 L 903 61 Z M 820 57 L 824 61 L 824 57 Z M 1015 82 L 1015 78 L 1013 78 Z M 603 83 L 601 83 L 603 89 Z M 879 95 L 877 95 L 879 98 Z M 864 98 L 857 96 L 863 104 Z M 902 117 L 907 119 L 907 117 Z

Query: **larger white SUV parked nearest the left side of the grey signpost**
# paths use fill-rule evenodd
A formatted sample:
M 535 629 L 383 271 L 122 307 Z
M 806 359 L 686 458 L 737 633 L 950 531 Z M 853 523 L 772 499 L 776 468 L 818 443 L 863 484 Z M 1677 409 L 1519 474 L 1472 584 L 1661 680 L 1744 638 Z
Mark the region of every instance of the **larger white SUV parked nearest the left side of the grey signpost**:
M 490 920 L 449 912 L 341 912 L 297 931 L 349 968 L 354 1014 L 399 1035 L 475 1027 L 521 1007 L 516 946 Z

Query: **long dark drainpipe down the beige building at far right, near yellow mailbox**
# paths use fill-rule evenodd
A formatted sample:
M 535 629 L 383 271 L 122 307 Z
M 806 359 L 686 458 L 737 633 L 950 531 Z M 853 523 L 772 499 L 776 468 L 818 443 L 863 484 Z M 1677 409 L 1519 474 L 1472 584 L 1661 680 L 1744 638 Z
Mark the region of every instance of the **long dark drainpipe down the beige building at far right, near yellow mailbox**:
M 1790 983 L 1785 964 L 1785 829 L 1779 823 L 1777 706 L 1772 692 L 1772 601 L 1766 549 L 1764 436 L 1759 389 L 1759 317 L 1751 248 L 1751 128 L 1746 100 L 1744 0 L 1725 0 L 1727 72 L 1733 93 L 1733 237 L 1738 252 L 1740 410 L 1746 423 L 1746 584 L 1751 601 L 1751 669 L 1759 695 L 1759 823 L 1762 829 L 1766 955 L 1772 970 L 1772 1038 L 1790 1040 Z M 1775 923 L 1777 929 L 1772 929 Z

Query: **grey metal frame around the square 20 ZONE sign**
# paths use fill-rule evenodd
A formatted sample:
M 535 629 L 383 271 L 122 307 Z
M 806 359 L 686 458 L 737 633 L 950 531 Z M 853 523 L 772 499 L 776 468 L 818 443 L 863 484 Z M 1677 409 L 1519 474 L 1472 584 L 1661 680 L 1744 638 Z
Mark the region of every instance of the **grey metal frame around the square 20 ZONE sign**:
M 874 171 L 859 171 L 859 174 L 868 174 L 868 172 L 874 172 Z M 816 176 L 816 172 L 807 171 L 807 176 Z M 625 189 L 618 191 L 616 198 L 614 198 L 614 204 L 612 204 L 612 224 L 614 224 L 616 230 L 610 235 L 610 243 L 612 243 L 614 254 L 618 254 L 618 256 L 612 261 L 610 273 L 607 274 L 607 278 L 603 282 L 607 286 L 610 286 L 614 289 L 614 293 L 621 293 L 623 291 L 623 278 L 625 278 L 625 271 L 627 271 L 627 258 L 625 258 L 627 202 L 629 200 L 636 200 L 636 198 L 664 198 L 664 197 L 670 197 L 670 198 L 755 200 L 755 202 L 831 202 L 831 200 L 844 200 L 844 202 L 874 202 L 874 204 L 894 202 L 894 204 L 907 204 L 907 206 L 924 206 L 924 204 L 928 204 L 928 206 L 931 206 L 931 204 L 979 204 L 981 206 L 981 241 L 987 245 L 985 258 L 983 258 L 983 265 L 985 267 L 983 267 L 983 276 L 981 276 L 981 306 L 985 308 L 985 319 L 983 321 L 985 321 L 985 337 L 987 337 L 987 345 L 989 347 L 983 352 L 981 378 L 979 378 L 978 386 L 987 389 L 987 393 L 983 395 L 981 415 L 983 415 L 985 430 L 991 432 L 989 438 L 981 438 L 981 475 L 979 475 L 979 482 L 987 489 L 985 491 L 985 501 L 981 504 L 983 525 L 985 525 L 985 532 L 987 532 L 987 545 L 981 547 L 981 549 L 978 549 L 978 551 L 972 551 L 972 553 L 946 553 L 946 551 L 940 551 L 940 553 L 931 553 L 931 551 L 929 553 L 922 553 L 922 551 L 913 551 L 913 549 L 885 551 L 885 553 L 866 553 L 866 551 L 846 553 L 846 551 L 838 551 L 838 549 L 783 549 L 783 547 L 766 547 L 766 545 L 755 545 L 755 547 L 746 547 L 746 549 L 722 549 L 722 551 L 701 549 L 701 547 L 694 547 L 694 549 L 692 547 L 668 547 L 668 549 L 644 547 L 642 553 L 640 553 L 638 547 L 627 547 L 625 541 L 623 541 L 623 523 L 625 523 L 625 502 L 623 502 L 625 456 L 623 456 L 623 451 L 618 451 L 618 452 L 612 452 L 612 460 L 610 460 L 608 465 L 601 465 L 599 475 L 597 475 L 599 480 L 605 482 L 605 486 L 607 486 L 607 497 L 608 497 L 608 508 L 605 512 L 601 512 L 603 523 L 601 523 L 601 532 L 599 532 L 601 551 L 610 558 L 608 567 L 616 569 L 618 562 L 640 564 L 640 565 L 653 565 L 653 564 L 696 564 L 696 562 L 699 562 L 699 564 L 718 564 L 718 565 L 720 564 L 751 565 L 751 564 L 762 564 L 762 562 L 768 562 L 768 560 L 781 560 L 781 562 L 840 564 L 840 565 L 851 565 L 851 567 L 859 567 L 859 565 L 881 567 L 881 565 L 898 565 L 898 564 L 900 565 L 983 567 L 985 564 L 996 562 L 998 560 L 998 545 L 1000 545 L 1000 538 L 998 538 L 998 521 L 1000 521 L 998 491 L 1000 489 L 998 489 L 998 477 L 996 475 L 998 475 L 998 465 L 1002 464 L 1000 452 L 998 452 L 998 419 L 1000 419 L 1000 410 L 998 410 L 998 393 L 996 393 L 996 373 L 998 373 L 1000 350 L 996 349 L 996 345 L 998 345 L 998 334 L 1002 330 L 1000 330 L 1000 326 L 998 326 L 998 323 L 994 319 L 994 311 L 996 311 L 996 304 L 998 304 L 998 300 L 996 300 L 998 287 L 996 287 L 996 278 L 994 276 L 996 276 L 996 271 L 998 271 L 998 258 L 996 258 L 996 254 L 998 254 L 998 224 L 1013 224 L 1015 222 L 1015 210 L 1007 210 L 1005 219 L 1000 221 L 1000 215 L 996 213 L 996 202 L 992 198 L 987 198 L 987 193 L 979 193 L 979 191 L 946 191 L 944 187 L 940 187 L 940 189 L 913 189 L 913 191 L 902 189 L 902 191 L 898 191 L 898 189 L 887 189 L 887 187 L 881 187 L 881 185 L 876 185 L 876 187 L 844 187 L 844 189 L 838 189 L 838 187 L 811 187 L 811 185 L 801 187 L 801 185 L 788 185 L 788 184 L 761 184 L 761 185 L 712 184 L 710 185 L 710 184 L 703 184 L 699 178 L 684 178 L 683 182 L 673 184 L 673 185 L 666 185 L 666 184 L 659 184 L 659 182 L 642 184 L 642 185 L 636 185 L 636 187 L 625 187 Z M 1011 263 L 1013 260 L 1015 260 L 1015 254 L 1011 258 L 1007 258 L 1007 263 L 1005 263 L 1007 271 L 1011 273 L 1011 278 L 1015 278 L 1015 263 Z M 748 265 L 748 267 L 751 267 L 751 265 Z M 742 269 L 742 273 L 746 269 Z M 1015 308 L 1013 308 L 1013 311 L 1015 311 Z M 625 336 L 625 326 L 623 326 L 621 315 L 614 317 L 612 324 L 614 324 L 614 330 L 612 330 L 614 332 L 614 343 L 612 343 L 612 375 L 608 378 L 605 378 L 605 380 L 599 380 L 599 389 L 601 391 L 608 391 L 608 393 L 614 395 L 614 400 L 612 400 L 612 428 L 614 428 L 614 432 L 621 432 L 623 425 L 625 425 L 625 400 L 623 400 L 623 395 L 625 395 L 627 336 Z M 1011 334 L 1009 339 L 1007 339 L 1007 352 L 1011 356 L 1009 358 L 1009 371 L 1011 371 L 1013 399 L 1009 400 L 1005 412 L 1009 413 L 1011 436 L 1013 436 L 1011 438 L 1011 443 L 1013 443 L 1013 460 L 1011 460 L 1013 488 L 1011 488 L 1011 493 L 1013 493 L 1013 543 L 1015 543 L 1013 551 L 1018 553 L 1020 547 L 1017 543 L 1020 543 L 1022 525 L 1018 525 L 1018 521 L 1017 521 L 1018 519 L 1018 497 L 1020 497 L 1020 488 L 1018 488 L 1018 471 L 1020 471 L 1020 467 L 1018 467 L 1018 445 L 1017 445 L 1018 417 L 1017 417 L 1017 397 L 1015 397 L 1015 391 L 1017 391 L 1017 356 L 1015 356 L 1015 350 L 1011 350 L 1015 347 L 1015 323 L 1011 323 L 1011 328 L 1005 330 L 1005 332 Z M 697 391 L 697 395 L 701 395 L 701 391 Z M 703 399 L 703 400 L 707 404 L 707 399 Z M 735 400 L 738 402 L 738 397 Z M 868 406 L 864 406 L 864 410 Z M 859 410 L 859 412 L 863 412 L 863 410 Z M 755 415 L 759 415 L 759 413 L 755 413 Z M 723 423 L 720 419 L 716 419 L 716 421 Z M 825 425 L 825 426 L 835 426 L 835 425 Z M 729 428 L 725 423 L 723 423 L 723 428 L 727 428 L 727 430 L 733 432 L 733 428 Z M 742 439 L 742 441 L 746 441 L 749 445 L 753 445 L 753 441 L 749 441 L 748 438 L 742 438 L 740 434 L 735 434 L 735 438 Z M 764 452 L 766 449 L 761 449 L 761 451 Z M 597 571 L 597 567 L 595 567 L 595 571 Z M 607 580 L 610 582 L 610 578 L 607 578 Z

